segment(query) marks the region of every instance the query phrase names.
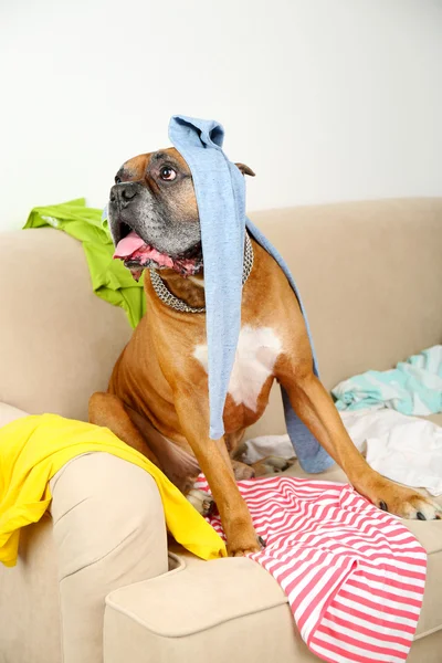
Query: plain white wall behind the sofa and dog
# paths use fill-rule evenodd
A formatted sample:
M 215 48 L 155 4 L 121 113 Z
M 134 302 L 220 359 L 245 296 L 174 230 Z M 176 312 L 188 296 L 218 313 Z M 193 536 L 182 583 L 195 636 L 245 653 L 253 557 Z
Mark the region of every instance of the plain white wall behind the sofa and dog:
M 0 6 L 0 230 L 102 207 L 173 113 L 224 124 L 249 209 L 442 194 L 442 0 Z

